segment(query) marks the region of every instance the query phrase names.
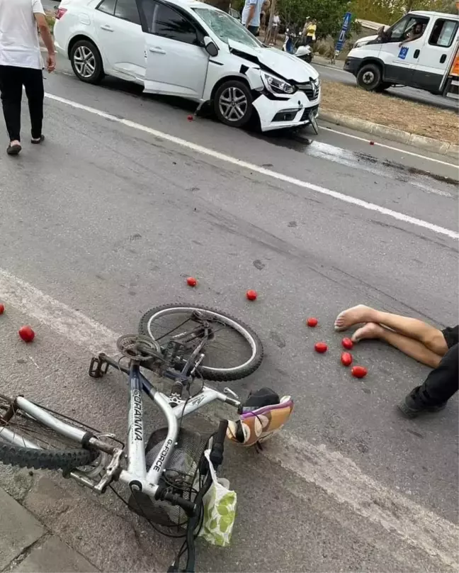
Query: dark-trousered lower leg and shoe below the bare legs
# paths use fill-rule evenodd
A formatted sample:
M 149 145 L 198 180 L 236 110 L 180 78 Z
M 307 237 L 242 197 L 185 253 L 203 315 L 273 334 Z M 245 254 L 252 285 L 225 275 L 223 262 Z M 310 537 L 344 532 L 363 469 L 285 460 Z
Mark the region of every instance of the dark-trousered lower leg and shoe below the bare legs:
M 433 369 L 422 386 L 413 391 L 414 399 L 426 406 L 437 406 L 459 390 L 459 344 L 446 352 L 438 367 Z

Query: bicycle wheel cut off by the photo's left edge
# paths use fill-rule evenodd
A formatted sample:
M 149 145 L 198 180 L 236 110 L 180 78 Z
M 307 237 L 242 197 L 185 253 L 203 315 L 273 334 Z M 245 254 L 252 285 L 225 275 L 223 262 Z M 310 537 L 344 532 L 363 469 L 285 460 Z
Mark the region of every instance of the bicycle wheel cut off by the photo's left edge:
M 98 457 L 98 452 L 78 447 L 77 443 L 35 420 L 15 404 L 14 399 L 0 394 L 0 462 L 17 467 L 69 472 L 88 466 Z M 44 406 L 40 408 L 74 425 L 69 418 Z M 81 429 L 87 430 L 84 426 Z M 11 436 L 14 443 L 11 443 Z

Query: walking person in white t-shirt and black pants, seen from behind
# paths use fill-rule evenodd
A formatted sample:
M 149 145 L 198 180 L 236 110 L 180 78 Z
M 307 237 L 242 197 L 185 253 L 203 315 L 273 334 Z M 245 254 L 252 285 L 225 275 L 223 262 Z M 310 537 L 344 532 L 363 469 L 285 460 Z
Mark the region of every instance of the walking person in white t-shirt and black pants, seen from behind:
M 21 152 L 21 101 L 26 89 L 32 143 L 42 143 L 43 62 L 38 30 L 47 48 L 46 68 L 56 67 L 55 48 L 40 0 L 0 0 L 0 92 L 10 143 L 8 155 Z

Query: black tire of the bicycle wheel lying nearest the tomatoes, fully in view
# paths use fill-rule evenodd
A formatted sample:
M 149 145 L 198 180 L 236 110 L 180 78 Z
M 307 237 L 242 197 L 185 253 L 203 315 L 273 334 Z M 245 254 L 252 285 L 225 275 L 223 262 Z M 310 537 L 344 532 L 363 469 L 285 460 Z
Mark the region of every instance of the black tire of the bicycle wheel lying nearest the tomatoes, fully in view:
M 227 321 L 225 322 L 225 324 L 230 328 L 236 330 L 240 335 L 242 335 L 243 338 L 246 339 L 247 344 L 249 344 L 250 346 L 253 345 L 252 355 L 250 360 L 244 362 L 243 365 L 239 365 L 238 367 L 232 367 L 230 369 L 227 369 L 227 368 L 217 368 L 210 366 L 199 366 L 198 373 L 200 374 L 200 376 L 203 377 L 203 379 L 210 380 L 212 382 L 232 382 L 234 380 L 239 380 L 242 378 L 246 378 L 247 376 L 250 376 L 250 374 L 253 374 L 255 370 L 258 369 L 259 366 L 261 365 L 261 362 L 263 360 L 263 344 L 261 343 L 259 336 L 254 332 L 254 330 L 252 330 L 242 321 L 239 321 L 239 319 L 234 318 L 233 316 L 227 313 L 222 313 L 221 311 L 218 311 L 215 308 L 210 308 L 208 306 L 178 303 L 178 304 L 164 304 L 162 306 L 150 308 L 150 310 L 147 311 L 142 316 L 142 318 L 140 318 L 139 333 L 154 338 L 152 336 L 152 333 L 150 332 L 151 329 L 149 327 L 154 316 L 157 316 L 159 313 L 166 314 L 165 311 L 174 311 L 174 310 L 175 311 L 194 310 L 194 311 L 205 311 L 214 313 L 216 316 L 225 319 L 225 321 Z M 233 325 L 231 323 L 233 323 Z M 234 325 L 237 326 L 238 328 L 234 328 Z M 249 343 L 250 339 L 251 339 L 251 344 Z

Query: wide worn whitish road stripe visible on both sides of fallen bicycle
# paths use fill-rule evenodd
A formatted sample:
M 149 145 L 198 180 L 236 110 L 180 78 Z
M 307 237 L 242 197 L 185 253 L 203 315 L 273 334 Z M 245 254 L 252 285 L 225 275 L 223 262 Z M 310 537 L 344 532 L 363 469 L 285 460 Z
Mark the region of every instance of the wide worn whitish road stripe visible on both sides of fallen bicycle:
M 2 269 L 0 298 L 85 351 L 115 351 L 118 334 L 113 330 Z M 267 445 L 263 455 L 305 482 L 319 486 L 358 516 L 459 571 L 458 525 L 376 482 L 339 452 L 283 431 Z

